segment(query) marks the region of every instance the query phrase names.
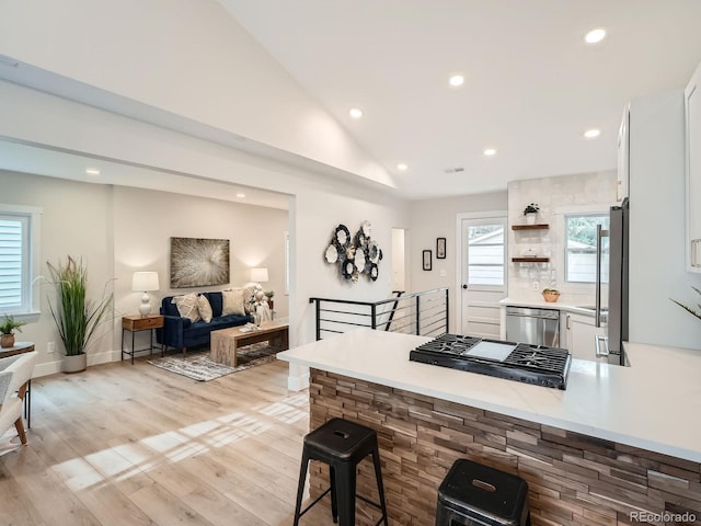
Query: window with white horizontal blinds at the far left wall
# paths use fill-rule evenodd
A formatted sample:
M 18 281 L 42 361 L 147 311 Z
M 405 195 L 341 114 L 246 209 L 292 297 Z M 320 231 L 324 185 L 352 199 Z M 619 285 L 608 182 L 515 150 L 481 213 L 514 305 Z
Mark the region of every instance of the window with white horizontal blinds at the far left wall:
M 36 209 L 0 205 L 0 315 L 30 313 L 36 302 L 38 221 Z

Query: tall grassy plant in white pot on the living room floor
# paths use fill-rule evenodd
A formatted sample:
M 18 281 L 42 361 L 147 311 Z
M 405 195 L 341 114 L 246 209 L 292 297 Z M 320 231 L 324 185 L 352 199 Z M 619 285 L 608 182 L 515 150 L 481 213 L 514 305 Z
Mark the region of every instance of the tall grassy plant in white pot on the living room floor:
M 69 255 L 65 264 L 59 261 L 56 266 L 49 262 L 46 265 L 58 293 L 56 306 L 49 301 L 48 307 L 66 348 L 64 371 L 85 370 L 85 347 L 106 320 L 113 295 L 103 294 L 96 301 L 88 299 L 88 271 L 82 260 Z

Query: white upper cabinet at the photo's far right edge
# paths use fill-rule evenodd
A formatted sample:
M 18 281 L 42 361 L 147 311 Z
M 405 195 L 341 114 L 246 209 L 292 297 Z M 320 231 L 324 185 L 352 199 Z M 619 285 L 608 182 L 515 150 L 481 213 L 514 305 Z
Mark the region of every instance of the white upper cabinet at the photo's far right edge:
M 701 66 L 683 92 L 687 178 L 687 268 L 701 272 Z

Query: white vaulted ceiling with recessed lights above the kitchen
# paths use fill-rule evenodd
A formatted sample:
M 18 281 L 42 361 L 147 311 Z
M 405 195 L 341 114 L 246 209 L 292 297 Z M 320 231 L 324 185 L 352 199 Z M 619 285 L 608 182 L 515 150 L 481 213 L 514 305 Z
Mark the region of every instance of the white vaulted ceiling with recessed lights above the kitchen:
M 218 1 L 409 198 L 614 169 L 624 104 L 701 62 L 699 0 Z

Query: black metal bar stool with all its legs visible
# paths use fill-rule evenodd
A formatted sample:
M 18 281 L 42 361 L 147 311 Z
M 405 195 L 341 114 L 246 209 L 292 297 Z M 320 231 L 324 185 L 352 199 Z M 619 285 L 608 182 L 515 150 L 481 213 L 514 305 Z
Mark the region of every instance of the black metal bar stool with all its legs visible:
M 372 455 L 375 478 L 380 495 L 379 504 L 363 495 L 356 495 L 356 467 L 368 455 Z M 310 460 L 320 460 L 329 465 L 331 487 L 300 512 L 307 467 Z M 384 526 L 388 526 L 384 489 L 380 472 L 380 454 L 375 430 L 347 420 L 332 419 L 304 436 L 302 464 L 299 470 L 299 487 L 297 488 L 297 505 L 295 507 L 295 526 L 299 524 L 299 517 L 329 492 L 331 492 L 331 515 L 333 516 L 333 522 L 338 523 L 340 526 L 355 526 L 356 496 L 380 510 L 382 517 L 377 524 L 384 522 Z

